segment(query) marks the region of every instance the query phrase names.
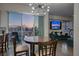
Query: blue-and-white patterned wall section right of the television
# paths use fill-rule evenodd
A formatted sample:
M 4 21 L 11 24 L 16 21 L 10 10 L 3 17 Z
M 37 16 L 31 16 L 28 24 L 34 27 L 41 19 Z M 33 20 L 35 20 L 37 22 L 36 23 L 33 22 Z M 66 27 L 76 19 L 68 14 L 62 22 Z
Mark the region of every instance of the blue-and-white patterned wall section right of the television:
M 71 37 L 73 37 L 73 20 L 72 21 L 67 21 L 67 22 L 62 22 L 62 32 L 63 33 L 68 33 Z

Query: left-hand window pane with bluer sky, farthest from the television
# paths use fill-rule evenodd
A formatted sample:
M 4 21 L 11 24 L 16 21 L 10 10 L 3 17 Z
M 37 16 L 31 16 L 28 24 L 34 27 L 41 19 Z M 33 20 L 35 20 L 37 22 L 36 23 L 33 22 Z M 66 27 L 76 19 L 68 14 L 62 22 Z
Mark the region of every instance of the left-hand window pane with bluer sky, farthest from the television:
M 17 35 L 17 41 L 21 42 L 21 24 L 22 24 L 22 14 L 10 12 L 9 13 L 9 34 L 10 37 L 13 32 Z

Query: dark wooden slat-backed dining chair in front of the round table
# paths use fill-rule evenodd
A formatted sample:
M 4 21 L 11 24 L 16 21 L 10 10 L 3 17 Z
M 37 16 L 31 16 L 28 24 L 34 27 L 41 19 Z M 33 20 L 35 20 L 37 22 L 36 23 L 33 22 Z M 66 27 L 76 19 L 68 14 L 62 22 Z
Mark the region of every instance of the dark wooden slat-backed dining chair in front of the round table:
M 56 55 L 57 41 L 42 42 L 38 44 L 37 56 L 55 56 Z

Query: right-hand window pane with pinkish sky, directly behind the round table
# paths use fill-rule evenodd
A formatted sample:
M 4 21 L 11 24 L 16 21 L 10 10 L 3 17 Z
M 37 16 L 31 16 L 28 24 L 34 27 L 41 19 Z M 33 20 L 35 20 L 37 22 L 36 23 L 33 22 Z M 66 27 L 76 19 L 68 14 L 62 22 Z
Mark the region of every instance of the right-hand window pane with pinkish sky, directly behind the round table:
M 25 35 L 33 35 L 33 24 L 34 24 L 34 17 L 29 14 L 22 15 L 22 32 L 23 36 Z

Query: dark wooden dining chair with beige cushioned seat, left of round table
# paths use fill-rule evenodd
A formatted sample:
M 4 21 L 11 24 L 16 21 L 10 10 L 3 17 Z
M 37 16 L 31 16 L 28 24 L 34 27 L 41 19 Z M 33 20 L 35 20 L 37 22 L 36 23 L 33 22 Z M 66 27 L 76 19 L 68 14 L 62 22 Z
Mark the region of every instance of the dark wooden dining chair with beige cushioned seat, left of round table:
M 29 52 L 28 46 L 22 45 L 22 44 L 17 44 L 15 36 L 12 36 L 12 39 L 13 39 L 14 56 L 22 56 L 25 53 L 26 53 L 26 55 L 28 55 L 28 52 Z

